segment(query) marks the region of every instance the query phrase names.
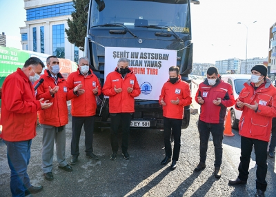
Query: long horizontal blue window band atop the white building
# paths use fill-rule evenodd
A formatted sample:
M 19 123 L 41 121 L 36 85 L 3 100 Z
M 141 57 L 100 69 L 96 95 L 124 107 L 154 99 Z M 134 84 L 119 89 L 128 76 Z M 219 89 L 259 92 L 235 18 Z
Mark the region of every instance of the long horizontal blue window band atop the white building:
M 74 11 L 73 2 L 32 8 L 27 10 L 27 21 L 70 15 Z

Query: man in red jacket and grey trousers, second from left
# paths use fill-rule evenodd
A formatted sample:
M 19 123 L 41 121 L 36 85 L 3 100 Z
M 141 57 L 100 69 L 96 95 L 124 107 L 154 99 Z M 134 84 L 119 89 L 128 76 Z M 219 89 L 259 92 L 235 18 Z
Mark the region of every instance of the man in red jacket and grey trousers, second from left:
M 44 70 L 44 74 L 41 75 L 44 82 L 37 88 L 37 99 L 47 98 L 53 103 L 53 106 L 51 109 L 39 111 L 39 123 L 43 128 L 41 168 L 46 180 L 53 180 L 54 143 L 56 144 L 59 168 L 67 172 L 72 171 L 65 156 L 65 125 L 68 123 L 67 101 L 78 96 L 81 84 L 78 84 L 73 90 L 68 90 L 67 81 L 59 73 L 57 56 L 48 56 L 46 63 L 48 70 Z

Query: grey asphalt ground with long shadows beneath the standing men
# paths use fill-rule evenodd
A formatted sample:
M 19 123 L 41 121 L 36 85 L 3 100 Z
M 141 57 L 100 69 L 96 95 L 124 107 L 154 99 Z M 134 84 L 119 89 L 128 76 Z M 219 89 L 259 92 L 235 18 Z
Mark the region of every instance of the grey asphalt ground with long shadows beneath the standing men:
M 195 92 L 193 92 L 195 94 Z M 195 103 L 193 107 L 198 107 Z M 71 117 L 69 118 L 71 120 Z M 52 173 L 55 179 L 45 180 L 41 172 L 42 129 L 37 127 L 37 137 L 32 141 L 28 174 L 32 185 L 43 185 L 43 190 L 33 196 L 254 196 L 255 155 L 250 162 L 248 184 L 232 187 L 228 180 L 236 178 L 240 155 L 240 136 L 224 137 L 222 176 L 217 179 L 214 171 L 214 148 L 210 137 L 206 169 L 194 172 L 199 162 L 198 114 L 191 115 L 190 126 L 181 134 L 181 152 L 177 169 L 170 164 L 160 165 L 164 158 L 163 132 L 159 130 L 133 130 L 130 132 L 130 160 L 119 151 L 116 160 L 110 160 L 109 130 L 95 132 L 94 153 L 99 160 L 85 157 L 84 132 L 81 133 L 79 162 L 72 172 L 58 168 L 54 156 Z M 70 161 L 71 122 L 66 126 L 66 158 Z M 266 196 L 276 196 L 275 159 L 268 158 L 268 187 Z M 6 158 L 6 145 L 0 141 L 0 196 L 10 194 L 10 169 Z

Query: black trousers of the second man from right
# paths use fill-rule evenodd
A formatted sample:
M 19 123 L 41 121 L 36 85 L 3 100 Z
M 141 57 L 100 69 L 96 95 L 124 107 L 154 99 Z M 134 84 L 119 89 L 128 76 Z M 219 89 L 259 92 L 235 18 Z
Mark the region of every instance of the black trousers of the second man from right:
M 200 162 L 205 163 L 207 157 L 208 141 L 210 133 L 213 136 L 213 144 L 215 147 L 215 167 L 221 166 L 222 159 L 222 140 L 224 139 L 223 123 L 205 123 L 198 122 L 199 138 L 200 138 Z

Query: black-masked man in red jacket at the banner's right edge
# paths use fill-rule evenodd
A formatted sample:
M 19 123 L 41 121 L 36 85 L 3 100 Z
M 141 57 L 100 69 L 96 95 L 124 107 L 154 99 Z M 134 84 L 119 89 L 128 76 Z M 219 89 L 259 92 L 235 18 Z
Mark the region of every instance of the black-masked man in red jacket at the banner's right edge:
M 172 66 L 169 68 L 170 79 L 164 83 L 159 103 L 163 106 L 164 116 L 164 143 L 166 157 L 161 161 L 161 165 L 166 165 L 172 157 L 172 165 L 170 169 L 177 167 L 181 145 L 181 125 L 184 118 L 184 107 L 192 103 L 190 96 L 190 86 L 181 80 L 179 68 Z M 170 136 L 173 134 L 175 145 L 170 144 Z

